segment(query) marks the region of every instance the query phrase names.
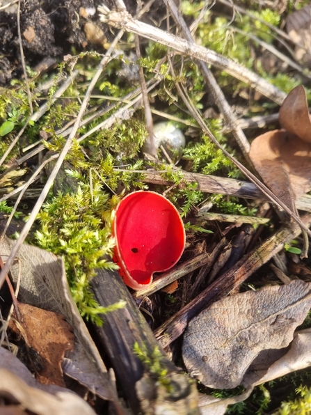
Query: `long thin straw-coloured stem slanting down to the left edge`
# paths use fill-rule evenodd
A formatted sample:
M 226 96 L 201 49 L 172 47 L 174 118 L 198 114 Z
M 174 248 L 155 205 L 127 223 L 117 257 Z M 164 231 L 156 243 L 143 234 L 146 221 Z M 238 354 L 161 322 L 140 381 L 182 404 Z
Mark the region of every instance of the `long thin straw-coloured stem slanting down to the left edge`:
M 109 47 L 108 51 L 106 52 L 106 56 L 104 56 L 104 58 L 102 58 L 102 61 L 99 63 L 97 72 L 94 75 L 92 81 L 90 82 L 90 85 L 88 86 L 88 90 L 86 91 L 86 96 L 84 97 L 83 102 L 81 104 L 81 108 L 77 116 L 76 123 L 74 123 L 72 132 L 70 133 L 70 136 L 68 137 L 65 143 L 65 146 L 63 147 L 63 150 L 61 151 L 61 154 L 59 155 L 56 161 L 54 169 L 51 171 L 51 174 L 49 175 L 49 178 L 47 179 L 45 187 L 42 189 L 42 192 L 40 194 L 40 197 L 38 198 L 38 201 L 35 203 L 35 206 L 33 207 L 33 210 L 31 211 L 31 214 L 29 216 L 28 221 L 26 222 L 26 225 L 22 229 L 22 232 L 20 233 L 16 244 L 13 246 L 10 256 L 8 257 L 8 260 L 6 261 L 6 265 L 4 265 L 2 271 L 0 272 L 0 287 L 2 286 L 3 281 L 6 278 L 6 274 L 8 274 L 8 270 L 10 269 L 10 266 L 13 264 L 13 260 L 20 246 L 22 246 L 26 236 L 28 235 L 29 230 L 31 229 L 31 226 L 33 225 L 33 222 L 35 221 L 35 218 L 37 217 L 37 214 L 40 211 L 42 203 L 45 201 L 45 198 L 47 197 L 47 194 L 49 193 L 49 189 L 51 188 L 51 185 L 53 184 L 54 179 L 56 178 L 56 175 L 59 169 L 61 169 L 61 165 L 63 164 L 65 156 L 67 155 L 67 152 L 70 150 L 74 136 L 76 135 L 76 132 L 79 129 L 79 124 L 83 116 L 83 113 L 86 110 L 86 107 L 88 105 L 90 94 L 92 93 L 97 80 L 102 74 L 102 70 L 104 69 L 104 66 L 109 62 L 111 53 L 113 52 L 113 48 L 115 47 L 115 45 L 117 45 L 122 35 L 123 35 L 123 32 L 120 31 L 118 35 L 115 37 L 115 39 L 113 40 L 113 42 L 111 43 L 111 47 Z

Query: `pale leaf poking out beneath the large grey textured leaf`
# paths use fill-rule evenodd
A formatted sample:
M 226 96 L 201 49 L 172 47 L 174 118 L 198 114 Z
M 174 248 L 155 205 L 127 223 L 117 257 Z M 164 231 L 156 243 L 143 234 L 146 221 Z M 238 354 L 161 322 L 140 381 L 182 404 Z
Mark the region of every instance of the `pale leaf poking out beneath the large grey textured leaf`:
M 296 370 L 311 366 L 311 329 L 296 331 L 289 350 L 265 350 L 261 361 L 254 361 L 243 379 L 256 386 Z

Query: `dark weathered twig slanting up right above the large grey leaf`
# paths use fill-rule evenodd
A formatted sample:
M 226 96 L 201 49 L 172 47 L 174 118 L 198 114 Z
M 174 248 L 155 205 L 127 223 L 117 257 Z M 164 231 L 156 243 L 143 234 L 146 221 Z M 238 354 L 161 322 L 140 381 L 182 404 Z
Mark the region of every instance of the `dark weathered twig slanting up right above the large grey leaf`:
M 310 214 L 305 214 L 302 220 L 305 226 L 311 225 Z M 159 340 L 161 346 L 167 347 L 173 340 L 181 336 L 186 329 L 187 323 L 200 313 L 203 308 L 228 295 L 234 288 L 239 287 L 251 274 L 278 253 L 285 243 L 293 240 L 300 233 L 301 228 L 297 224 L 294 224 L 292 227 L 285 226 L 269 237 L 258 248 L 253 249 L 253 251 L 241 258 L 236 265 L 216 279 L 198 297 L 154 331 L 154 335 Z

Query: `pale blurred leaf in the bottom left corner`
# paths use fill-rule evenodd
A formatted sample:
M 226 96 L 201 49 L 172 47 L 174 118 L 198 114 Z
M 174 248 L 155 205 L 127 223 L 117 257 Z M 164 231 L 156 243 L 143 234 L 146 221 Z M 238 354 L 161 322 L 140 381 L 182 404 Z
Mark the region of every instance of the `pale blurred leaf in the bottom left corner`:
M 0 369 L 0 398 L 18 402 L 35 415 L 95 415 L 90 405 L 74 393 L 57 392 L 55 396 L 51 395 L 27 385 L 6 369 Z

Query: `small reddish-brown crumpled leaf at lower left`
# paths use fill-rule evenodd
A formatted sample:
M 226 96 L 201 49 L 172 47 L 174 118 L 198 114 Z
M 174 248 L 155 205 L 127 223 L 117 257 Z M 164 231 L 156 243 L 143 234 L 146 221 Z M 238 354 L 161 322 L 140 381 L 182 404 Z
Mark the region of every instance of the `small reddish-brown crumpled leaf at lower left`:
M 18 303 L 18 311 L 22 326 L 22 335 L 27 346 L 38 352 L 42 368 L 37 369 L 35 378 L 42 384 L 55 384 L 65 387 L 61 362 L 66 350 L 73 350 L 74 334 L 72 327 L 65 322 L 63 315 L 42 308 Z M 15 332 L 19 328 L 14 320 L 9 327 Z

